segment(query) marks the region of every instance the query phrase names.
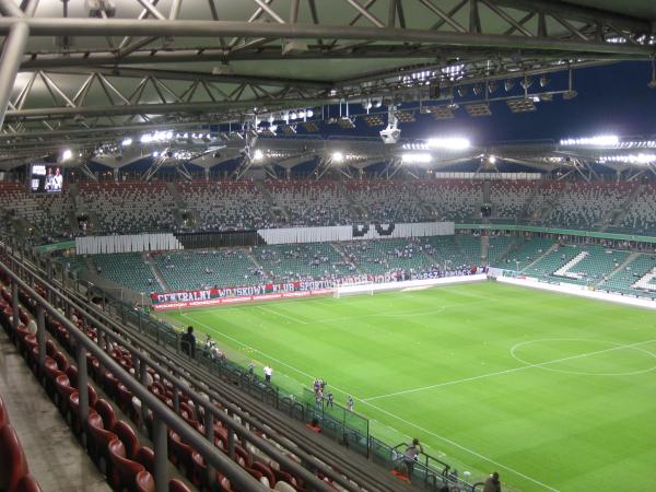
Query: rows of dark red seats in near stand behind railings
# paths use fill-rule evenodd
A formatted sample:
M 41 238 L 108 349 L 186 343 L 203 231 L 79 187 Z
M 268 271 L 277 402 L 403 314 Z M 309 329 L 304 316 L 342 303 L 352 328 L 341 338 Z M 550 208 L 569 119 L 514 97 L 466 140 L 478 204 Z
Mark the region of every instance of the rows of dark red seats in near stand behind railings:
M 31 296 L 25 292 L 21 293 L 20 298 L 21 304 L 19 311 L 21 313 L 21 326 L 23 326 L 23 323 L 26 323 L 32 318 L 33 313 L 31 313 L 31 311 L 35 308 L 35 304 Z M 9 290 L 3 288 L 2 296 L 0 298 L 0 325 L 9 332 L 13 330 L 9 317 L 12 313 L 11 302 L 12 296 Z M 23 307 L 23 305 L 26 307 Z M 107 480 L 113 489 L 153 490 L 153 450 L 150 447 L 144 446 L 144 444 L 150 444 L 150 442 L 148 441 L 148 437 L 142 435 L 139 431 L 139 429 L 141 429 L 139 424 L 142 424 L 148 429 L 149 434 L 152 435 L 153 414 L 152 412 L 145 412 L 145 409 L 141 407 L 141 402 L 136 398 L 134 394 L 122 386 L 116 378 L 118 373 L 113 374 L 110 371 L 118 371 L 122 374 L 122 371 L 125 370 L 133 373 L 133 367 L 142 367 L 142 364 L 145 362 L 144 360 L 136 361 L 133 359 L 137 353 L 134 352 L 136 349 L 144 351 L 144 353 L 156 352 L 160 349 L 150 347 L 152 343 L 150 341 L 140 341 L 136 333 L 130 335 L 130 342 L 129 344 L 126 344 L 121 338 L 126 328 L 117 327 L 118 331 L 110 337 L 107 336 L 108 333 L 101 336 L 94 326 L 95 323 L 89 324 L 84 321 L 83 315 L 79 312 L 73 311 L 71 319 L 74 320 L 77 329 L 84 332 L 93 342 L 99 344 L 102 350 L 106 351 L 115 363 L 114 366 L 107 366 L 105 365 L 106 363 L 104 363 L 103 367 L 101 367 L 98 360 L 92 354 L 93 352 L 87 353 L 86 355 L 85 366 L 91 376 L 87 386 L 87 447 L 90 456 L 98 468 L 107 475 Z M 67 328 L 66 325 L 54 317 L 46 317 L 45 327 L 48 330 L 45 340 L 45 386 L 47 390 L 50 388 L 48 394 L 65 418 L 67 418 L 67 421 L 71 425 L 71 430 L 74 433 L 79 433 L 81 427 L 75 420 L 79 413 L 79 377 L 78 370 L 73 365 L 77 351 L 75 345 L 79 342 L 79 339 L 73 341 L 70 328 Z M 23 331 L 20 330 L 19 336 L 16 337 L 17 344 L 22 348 L 21 352 L 24 354 L 28 365 L 31 367 L 36 367 L 36 360 L 38 359 L 39 351 L 38 342 L 35 341 L 34 336 L 22 333 Z M 137 343 L 137 345 L 134 343 Z M 181 383 L 177 379 L 179 374 L 186 373 L 185 370 L 177 366 L 175 361 L 167 362 L 166 364 L 166 372 L 163 372 L 159 365 L 142 367 L 147 370 L 142 378 L 148 383 L 149 391 L 161 399 L 169 409 L 176 411 L 191 429 L 204 433 L 203 424 L 208 422 L 208 415 L 204 414 L 208 411 L 208 407 L 204 407 L 204 405 L 209 398 L 208 395 L 206 394 L 203 398 L 198 394 L 194 394 L 188 382 Z M 115 367 L 118 367 L 118 370 Z M 124 377 L 126 376 L 122 375 L 120 378 Z M 187 377 L 190 378 L 191 376 L 187 375 Z M 186 388 L 184 391 L 180 391 L 180 385 L 184 385 Z M 225 382 L 224 386 L 224 389 L 229 389 L 232 385 L 229 384 L 229 382 Z M 202 384 L 202 387 L 207 390 L 206 383 Z M 99 393 L 106 395 L 108 399 L 98 398 L 96 395 Z M 174 393 L 176 396 L 174 396 Z M 232 390 L 230 393 L 232 393 Z M 226 396 L 224 396 L 224 398 Z M 241 434 L 248 432 L 248 427 L 238 427 L 239 434 L 231 435 L 230 433 L 232 431 L 230 430 L 230 425 L 232 424 L 226 426 L 226 422 L 233 420 L 233 418 L 229 417 L 227 413 L 224 414 L 223 403 L 219 401 L 211 401 L 209 403 L 211 408 L 214 408 L 215 406 L 219 409 L 214 410 L 214 418 L 211 420 L 214 431 L 214 444 L 224 454 L 234 459 L 243 472 L 246 472 L 245 476 L 250 476 L 256 481 L 259 481 L 259 483 L 272 490 L 303 491 L 309 485 L 309 483 L 306 483 L 308 477 L 314 480 L 312 490 L 345 490 L 326 475 L 332 473 L 332 477 L 337 478 L 338 476 L 341 477 L 342 471 L 337 472 L 338 475 L 336 476 L 326 467 L 326 465 L 320 465 L 319 469 L 324 470 L 323 472 L 319 470 L 315 471 L 315 468 L 317 467 L 316 464 L 313 465 L 312 471 L 306 470 L 300 472 L 297 462 L 290 458 L 291 455 L 289 453 L 292 450 L 295 455 L 302 457 L 306 456 L 305 452 L 296 447 L 289 437 L 276 437 L 274 429 L 263 426 L 261 423 L 256 423 L 256 417 L 253 417 L 253 413 L 257 413 L 257 406 L 253 400 L 248 401 L 248 413 L 242 411 L 238 407 L 235 407 L 234 403 L 231 406 L 230 411 L 231 415 L 234 415 L 234 425 L 242 425 L 242 422 L 245 419 L 247 425 L 250 423 L 250 429 L 258 429 L 260 431 L 266 429 L 267 434 L 271 433 L 272 437 L 258 433 L 258 435 L 254 434 L 248 437 L 249 442 L 246 442 L 247 436 L 242 436 Z M 1 412 L 0 415 L 2 415 Z M 221 419 L 215 419 L 216 415 L 221 415 Z M 144 421 L 141 421 L 141 419 L 144 419 Z M 132 421 L 131 423 L 130 420 Z M 268 422 L 268 425 L 276 426 L 277 423 L 270 421 Z M 4 426 L 7 427 L 7 424 Z M 302 427 L 301 424 L 300 427 Z M 183 440 L 180 435 L 177 434 L 176 430 L 169 429 L 167 434 L 169 447 L 168 458 L 171 462 L 177 467 L 177 471 L 174 471 L 175 478 L 169 482 L 169 490 L 180 492 L 194 490 L 191 487 L 187 485 L 187 481 L 192 483 L 199 490 L 209 489 L 210 483 L 207 481 L 207 464 L 203 457 L 196 453 L 189 442 Z M 305 438 L 311 438 L 305 433 L 303 435 Z M 232 441 L 230 445 L 229 441 Z M 262 453 L 261 448 L 258 448 L 258 446 L 261 446 L 265 442 L 269 442 L 269 444 L 267 444 L 269 450 L 266 454 Z M 284 446 L 281 443 L 284 443 Z M 274 452 L 271 449 L 274 449 Z M 295 457 L 292 458 L 296 459 Z M 353 459 L 354 457 L 350 456 L 350 460 Z M 285 462 L 293 462 L 295 468 L 291 468 L 289 465 L 285 465 Z M 345 465 L 342 464 L 342 466 Z M 362 467 L 359 469 L 362 471 Z M 215 480 L 219 484 L 219 490 L 227 492 L 239 490 L 221 472 L 216 473 Z M 343 478 L 341 480 L 344 480 L 344 483 L 352 483 Z M 380 477 L 374 478 L 373 480 L 379 482 L 383 480 L 383 482 L 385 482 L 387 479 L 383 473 Z M 393 482 L 385 487 L 377 487 L 377 489 L 390 491 L 393 490 L 391 483 Z M 318 484 L 321 484 L 323 487 L 318 487 Z M 10 487 L 10 490 L 13 489 Z

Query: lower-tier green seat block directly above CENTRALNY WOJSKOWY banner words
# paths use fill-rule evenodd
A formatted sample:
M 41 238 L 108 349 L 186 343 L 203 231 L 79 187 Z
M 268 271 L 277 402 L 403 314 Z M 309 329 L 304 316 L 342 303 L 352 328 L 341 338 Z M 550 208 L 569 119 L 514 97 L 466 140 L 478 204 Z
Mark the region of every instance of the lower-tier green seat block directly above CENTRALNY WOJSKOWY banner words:
M 167 251 L 153 255 L 153 259 L 172 291 L 249 285 L 268 280 L 246 249 Z

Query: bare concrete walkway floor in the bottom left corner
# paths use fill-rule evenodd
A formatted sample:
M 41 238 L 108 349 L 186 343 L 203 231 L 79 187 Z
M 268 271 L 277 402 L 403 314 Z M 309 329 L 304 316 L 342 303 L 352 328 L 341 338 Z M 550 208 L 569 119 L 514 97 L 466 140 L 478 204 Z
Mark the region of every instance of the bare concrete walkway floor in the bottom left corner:
M 27 364 L 0 330 L 0 395 L 44 492 L 110 492 Z

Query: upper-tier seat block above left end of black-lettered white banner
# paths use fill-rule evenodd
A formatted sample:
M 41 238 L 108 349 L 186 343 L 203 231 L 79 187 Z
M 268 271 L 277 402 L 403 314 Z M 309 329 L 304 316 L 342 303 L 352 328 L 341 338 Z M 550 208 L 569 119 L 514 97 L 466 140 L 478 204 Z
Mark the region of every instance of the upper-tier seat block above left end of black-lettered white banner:
M 269 180 L 266 186 L 273 202 L 289 212 L 289 225 L 351 223 L 349 201 L 338 181 Z

